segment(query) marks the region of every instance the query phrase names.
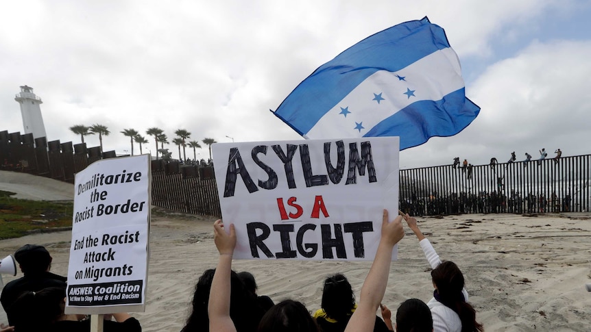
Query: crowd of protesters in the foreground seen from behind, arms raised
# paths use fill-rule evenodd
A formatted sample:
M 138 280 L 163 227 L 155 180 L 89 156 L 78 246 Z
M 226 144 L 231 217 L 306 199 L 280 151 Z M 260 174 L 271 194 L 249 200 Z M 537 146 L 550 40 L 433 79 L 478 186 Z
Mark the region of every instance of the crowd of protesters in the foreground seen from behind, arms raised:
M 418 298 L 400 303 L 393 319 L 383 297 L 388 287 L 392 248 L 405 235 L 403 219 L 415 233 L 433 269 L 434 291 L 427 303 Z M 381 240 L 359 301 L 348 279 L 343 274 L 333 274 L 324 280 L 321 308 L 314 314 L 298 301 L 274 303 L 269 296 L 258 295 L 250 272 L 232 270 L 234 225 L 217 220 L 213 227 L 219 251 L 217 268 L 206 270 L 197 281 L 191 314 L 181 332 L 483 331 L 468 302 L 461 270 L 452 261 L 439 259 L 417 220 L 408 214 L 391 220 L 384 210 Z M 2 290 L 0 300 L 9 326 L 3 325 L 0 332 L 90 331 L 87 316 L 64 314 L 67 280 L 49 272 L 51 255 L 47 249 L 27 244 L 14 253 L 14 258 L 24 277 L 11 281 Z M 381 317 L 376 315 L 378 310 Z M 114 313 L 105 315 L 104 331 L 141 331 L 141 325 L 129 314 Z

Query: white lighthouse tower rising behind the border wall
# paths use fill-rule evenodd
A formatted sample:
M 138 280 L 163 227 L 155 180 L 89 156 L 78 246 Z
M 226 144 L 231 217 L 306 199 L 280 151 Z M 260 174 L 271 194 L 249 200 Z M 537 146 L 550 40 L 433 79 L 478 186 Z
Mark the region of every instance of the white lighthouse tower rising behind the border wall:
M 25 133 L 33 133 L 33 138 L 45 137 L 45 125 L 41 116 L 41 99 L 33 93 L 30 86 L 21 86 L 21 92 L 14 98 L 21 104 L 21 115 L 23 116 L 23 127 Z

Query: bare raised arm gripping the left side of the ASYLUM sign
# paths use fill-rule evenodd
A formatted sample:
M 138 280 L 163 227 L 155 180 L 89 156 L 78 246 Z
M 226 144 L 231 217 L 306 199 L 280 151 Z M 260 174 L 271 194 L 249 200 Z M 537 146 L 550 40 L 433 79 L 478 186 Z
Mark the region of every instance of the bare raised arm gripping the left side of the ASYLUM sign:
M 236 327 L 230 318 L 230 275 L 232 273 L 232 255 L 236 247 L 236 231 L 230 224 L 230 234 L 226 233 L 224 223 L 213 223 L 215 246 L 219 251 L 217 268 L 213 274 L 208 303 L 209 331 L 235 332 Z

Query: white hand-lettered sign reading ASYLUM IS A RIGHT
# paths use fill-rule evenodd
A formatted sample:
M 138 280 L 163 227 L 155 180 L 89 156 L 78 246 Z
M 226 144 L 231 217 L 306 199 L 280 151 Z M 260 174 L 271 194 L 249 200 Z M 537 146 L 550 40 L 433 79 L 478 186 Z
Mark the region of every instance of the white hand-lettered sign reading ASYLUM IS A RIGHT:
M 398 137 L 213 144 L 234 258 L 374 259 L 383 209 L 398 214 L 398 151 Z

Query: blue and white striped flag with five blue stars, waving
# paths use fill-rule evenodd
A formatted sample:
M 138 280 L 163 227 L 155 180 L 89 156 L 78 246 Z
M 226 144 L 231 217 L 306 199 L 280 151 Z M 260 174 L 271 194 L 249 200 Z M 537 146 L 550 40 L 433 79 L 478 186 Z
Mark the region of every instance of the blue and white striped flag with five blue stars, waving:
M 323 64 L 274 112 L 304 138 L 400 136 L 400 150 L 466 128 L 480 107 L 429 18 L 385 29 Z

